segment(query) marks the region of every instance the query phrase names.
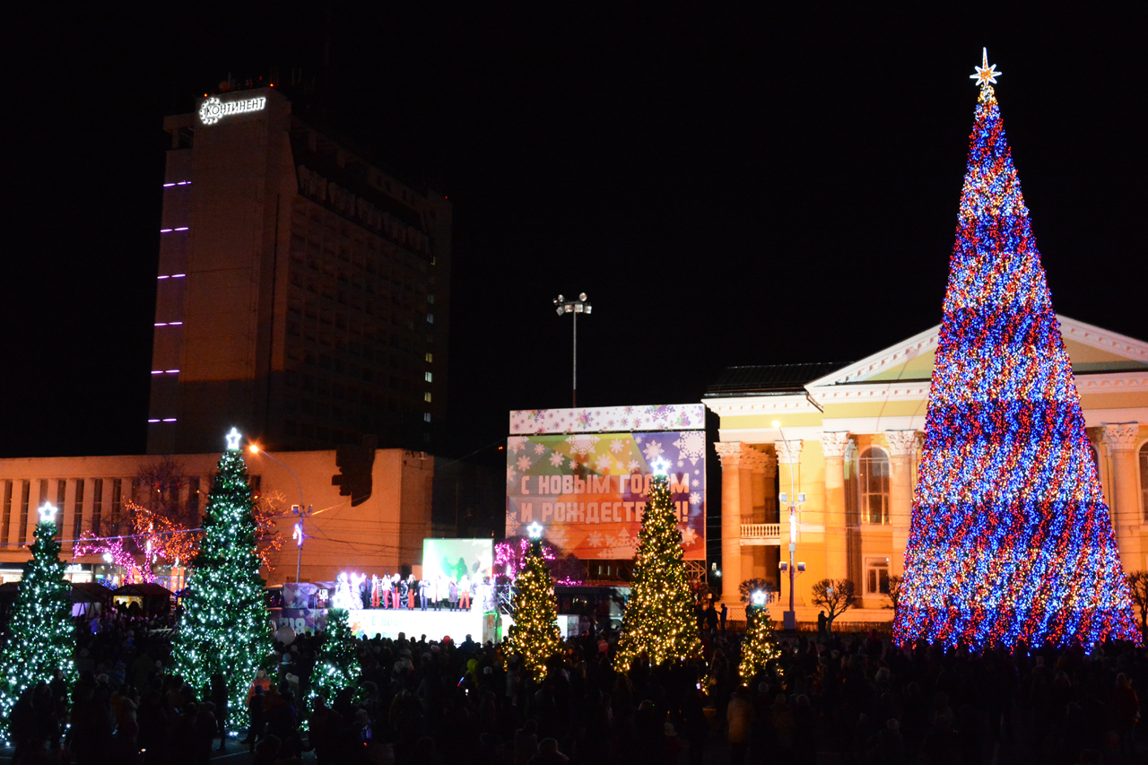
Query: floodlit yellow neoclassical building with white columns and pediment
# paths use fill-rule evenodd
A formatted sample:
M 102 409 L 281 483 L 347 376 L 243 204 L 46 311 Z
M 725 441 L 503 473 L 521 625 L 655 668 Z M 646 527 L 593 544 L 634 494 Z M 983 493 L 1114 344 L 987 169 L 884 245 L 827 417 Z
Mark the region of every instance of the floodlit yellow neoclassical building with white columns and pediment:
M 1126 571 L 1148 570 L 1148 342 L 1058 316 L 1085 424 Z M 798 513 L 799 621 L 816 619 L 812 585 L 848 578 L 861 595 L 845 620 L 892 618 L 889 577 L 901 573 L 929 382 L 940 326 L 852 364 L 724 370 L 703 399 L 719 415 L 721 567 L 736 584 L 767 579 L 781 619 L 789 602 L 789 510 Z M 777 423 L 778 426 L 774 426 Z M 731 594 L 732 593 L 732 594 Z

